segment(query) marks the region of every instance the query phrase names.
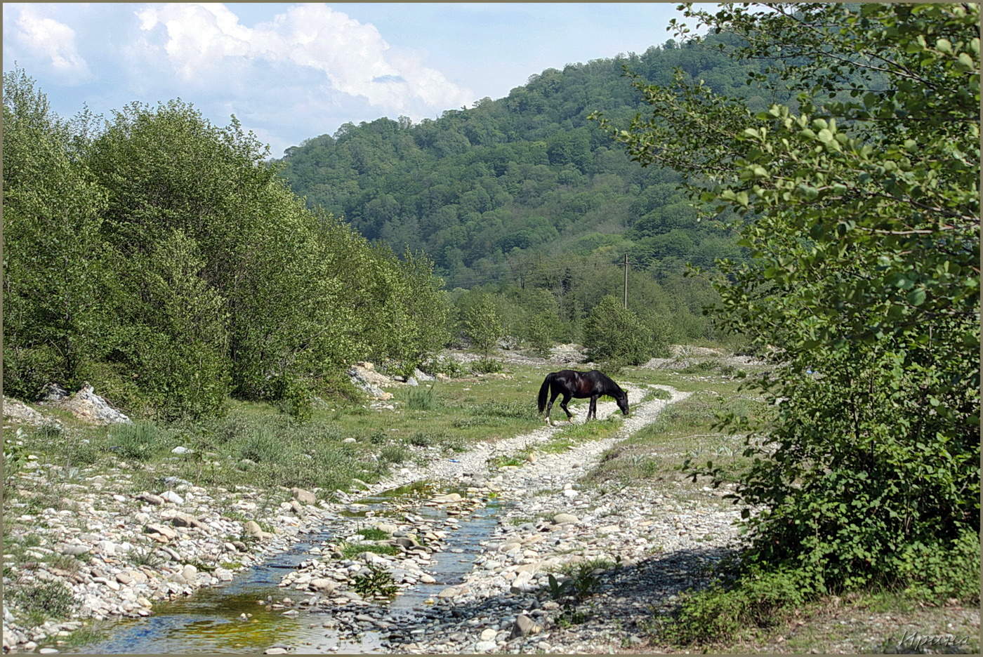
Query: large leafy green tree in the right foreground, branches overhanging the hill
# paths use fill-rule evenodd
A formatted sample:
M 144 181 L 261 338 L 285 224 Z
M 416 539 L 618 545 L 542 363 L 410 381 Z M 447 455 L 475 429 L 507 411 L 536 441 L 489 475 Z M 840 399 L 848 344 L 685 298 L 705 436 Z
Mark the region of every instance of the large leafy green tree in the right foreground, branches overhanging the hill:
M 650 118 L 602 122 L 743 223 L 752 259 L 723 263 L 720 319 L 781 366 L 757 381 L 769 431 L 726 418 L 754 459 L 736 499 L 763 509 L 734 590 L 902 586 L 929 553 L 955 590 L 979 532 L 978 8 L 770 7 L 687 14 L 774 58 L 751 82 L 802 89 L 797 108 L 677 76 L 636 79 Z

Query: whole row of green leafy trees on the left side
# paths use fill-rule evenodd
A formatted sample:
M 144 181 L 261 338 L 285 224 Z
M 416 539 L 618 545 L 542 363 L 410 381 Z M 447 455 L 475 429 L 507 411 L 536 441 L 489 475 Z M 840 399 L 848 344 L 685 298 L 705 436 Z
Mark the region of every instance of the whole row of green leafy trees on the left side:
M 449 338 L 433 263 L 309 210 L 235 118 L 173 100 L 67 123 L 15 71 L 4 125 L 9 393 L 87 380 L 143 416 L 232 395 L 310 419 L 351 396 L 349 363 L 412 371 Z

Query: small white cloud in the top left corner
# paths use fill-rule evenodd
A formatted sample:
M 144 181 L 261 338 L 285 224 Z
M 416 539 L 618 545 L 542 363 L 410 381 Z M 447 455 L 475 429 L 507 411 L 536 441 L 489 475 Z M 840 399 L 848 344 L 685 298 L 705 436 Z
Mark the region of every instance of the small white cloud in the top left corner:
M 64 82 L 87 82 L 88 64 L 75 42 L 75 30 L 54 19 L 45 18 L 30 5 L 21 5 L 14 21 L 15 38 L 32 56 L 43 60 Z

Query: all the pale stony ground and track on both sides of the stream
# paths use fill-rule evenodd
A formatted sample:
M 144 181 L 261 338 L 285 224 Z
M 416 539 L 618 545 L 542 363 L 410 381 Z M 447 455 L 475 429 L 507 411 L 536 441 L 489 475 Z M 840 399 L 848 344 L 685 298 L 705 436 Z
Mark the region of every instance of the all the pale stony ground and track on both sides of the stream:
M 242 567 L 257 564 L 288 547 L 301 534 L 339 521 L 349 524 L 338 512 L 357 497 L 411 482 L 433 481 L 464 494 L 463 499 L 444 507 L 462 522 L 471 510 L 484 507 L 489 500 L 506 503 L 491 539 L 483 541 L 463 582 L 440 590 L 423 609 L 406 609 L 404 605 L 390 611 L 352 595 L 352 577 L 364 569 L 364 564 L 339 561 L 337 554 L 331 555 L 333 546 L 324 545 L 317 554 L 312 550 L 308 566 L 285 577 L 281 585 L 312 596 L 307 601 L 309 608 L 328 607 L 324 611 L 333 615 L 332 627 L 342 635 L 355 638 L 365 630 L 384 630 L 378 634 L 376 645 L 393 652 L 596 652 L 629 647 L 641 640 L 642 627 L 652 616 L 650 607 L 668 604 L 675 592 L 695 583 L 693 574 L 718 559 L 734 535 L 731 521 L 735 514 L 721 507 L 715 499 L 717 492 L 708 492 L 706 499 L 698 501 L 677 501 L 645 486 L 604 491 L 581 488 L 578 483 L 608 448 L 654 421 L 667 404 L 689 395 L 658 387 L 671 398 L 641 404 L 649 389 L 626 385 L 631 414 L 606 439 L 587 441 L 560 454 L 538 453 L 534 461 L 522 466 L 490 469 L 493 457 L 548 443 L 567 425 L 560 421 L 520 436 L 478 444 L 453 459 L 403 468 L 358 496 L 346 499 L 342 494 L 341 504 L 313 504 L 313 495 L 296 489 L 293 495 L 281 491 L 273 499 L 261 491 L 232 495 L 176 478 L 161 495 L 121 494 L 128 485 L 127 472 L 117 473 L 116 480 L 78 476 L 75 481 L 85 479 L 84 484 L 63 484 L 71 497 L 63 500 L 63 506 L 71 510 L 12 510 L 18 523 L 30 526 L 51 548 L 29 548 L 28 556 L 38 560 L 15 565 L 6 574 L 5 583 L 16 580 L 24 588 L 61 580 L 82 601 L 81 617 L 145 616 L 152 602 L 186 595 L 233 576 L 224 568 L 201 572 L 190 565 L 192 562 L 235 561 Z M 613 402 L 599 402 L 599 418 L 611 413 L 620 414 Z M 562 416 L 558 410 L 555 414 Z M 578 410 L 574 422 L 582 423 L 585 415 L 586 408 Z M 50 471 L 43 472 L 45 469 Z M 54 469 L 34 464 L 22 482 L 41 484 L 60 477 Z M 428 534 L 426 546 L 413 545 L 415 540 L 410 539 L 408 549 L 401 547 L 398 555 L 386 558 L 401 588 L 434 581 L 428 575 L 434 554 L 450 545 L 448 536 L 459 527 L 454 520 L 458 516 L 437 524 L 414 515 L 413 504 L 421 502 L 409 506 L 406 500 L 393 502 L 406 512 L 398 529 L 390 527 L 394 536 Z M 433 501 L 423 503 L 434 505 Z M 258 507 L 264 508 L 263 517 L 275 533 L 267 533 L 263 530 L 266 527 L 259 525 L 251 528 L 247 523 L 245 531 L 254 535 L 253 542 L 230 541 L 228 536 L 239 534 L 243 525 L 224 518 L 227 511 L 255 514 Z M 145 527 L 145 534 L 134 534 L 134 520 Z M 354 531 L 354 524 L 348 529 Z M 346 535 L 341 525 L 338 528 L 339 536 Z M 62 570 L 45 561 L 52 550 L 65 555 L 85 552 L 88 565 Z M 147 555 L 152 552 L 154 560 L 135 567 L 132 555 L 141 550 Z M 324 559 L 318 559 L 321 554 Z M 607 560 L 595 562 L 600 570 L 593 596 L 575 607 L 559 604 L 566 600 L 551 599 L 549 572 L 592 560 Z M 617 568 L 613 568 L 615 562 Z M 350 572 L 339 572 L 342 566 Z M 563 579 L 563 575 L 557 576 Z M 15 622 L 10 611 L 4 610 L 3 638 L 8 650 L 32 650 L 43 636 L 75 630 L 80 625 L 66 621 L 25 627 Z M 272 651 L 279 652 L 280 648 Z

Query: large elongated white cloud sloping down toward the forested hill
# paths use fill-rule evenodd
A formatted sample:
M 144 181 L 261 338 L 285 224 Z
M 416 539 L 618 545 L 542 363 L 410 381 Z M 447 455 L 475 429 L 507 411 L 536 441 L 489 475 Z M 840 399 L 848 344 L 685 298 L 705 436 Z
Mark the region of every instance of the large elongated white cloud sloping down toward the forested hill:
M 159 49 L 184 82 L 234 84 L 244 82 L 234 78 L 251 64 L 300 66 L 319 72 L 336 91 L 414 118 L 474 95 L 419 58 L 393 52 L 376 27 L 323 4 L 289 7 L 256 27 L 240 24 L 221 4 L 147 5 L 137 17 L 142 49 Z

